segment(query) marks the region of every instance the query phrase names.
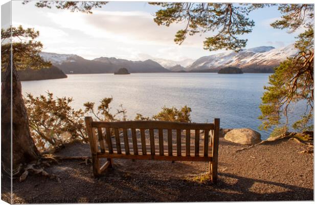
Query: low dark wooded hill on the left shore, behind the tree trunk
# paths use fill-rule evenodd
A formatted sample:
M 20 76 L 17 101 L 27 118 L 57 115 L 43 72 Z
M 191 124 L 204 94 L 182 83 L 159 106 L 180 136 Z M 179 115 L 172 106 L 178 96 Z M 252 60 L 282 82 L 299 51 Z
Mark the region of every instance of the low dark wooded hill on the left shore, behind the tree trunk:
M 48 79 L 63 79 L 67 75 L 56 66 L 50 68 L 43 68 L 40 70 L 26 69 L 17 71 L 20 81 L 38 81 Z M 3 81 L 4 73 L 1 73 L 1 82 Z

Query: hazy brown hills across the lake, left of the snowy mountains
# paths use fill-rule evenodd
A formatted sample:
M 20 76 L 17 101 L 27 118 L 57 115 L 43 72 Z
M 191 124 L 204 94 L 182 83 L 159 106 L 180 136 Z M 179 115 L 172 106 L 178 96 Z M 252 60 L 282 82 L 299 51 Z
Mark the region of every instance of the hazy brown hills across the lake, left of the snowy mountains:
M 41 53 L 41 57 L 57 65 L 66 74 L 114 73 L 122 67 L 127 68 L 129 72 L 170 72 L 152 60 L 129 61 L 107 57 L 87 60 L 77 55 L 54 53 Z

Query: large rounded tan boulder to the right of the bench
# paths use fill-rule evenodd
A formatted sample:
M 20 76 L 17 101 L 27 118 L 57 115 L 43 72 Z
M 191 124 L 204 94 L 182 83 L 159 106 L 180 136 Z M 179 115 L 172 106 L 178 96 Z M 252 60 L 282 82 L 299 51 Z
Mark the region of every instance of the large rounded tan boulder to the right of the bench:
M 261 142 L 261 134 L 252 129 L 239 128 L 229 131 L 224 139 L 238 144 L 252 145 Z

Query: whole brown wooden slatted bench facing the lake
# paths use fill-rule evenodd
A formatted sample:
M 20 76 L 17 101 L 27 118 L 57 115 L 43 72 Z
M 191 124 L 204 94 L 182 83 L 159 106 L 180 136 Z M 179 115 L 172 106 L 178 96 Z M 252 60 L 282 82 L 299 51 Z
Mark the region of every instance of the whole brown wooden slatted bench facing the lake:
M 205 161 L 209 162 L 212 182 L 217 182 L 220 119 L 214 119 L 214 123 L 103 122 L 85 117 L 85 122 L 95 176 L 111 167 L 113 158 Z M 101 158 L 107 159 L 102 166 L 99 161 Z

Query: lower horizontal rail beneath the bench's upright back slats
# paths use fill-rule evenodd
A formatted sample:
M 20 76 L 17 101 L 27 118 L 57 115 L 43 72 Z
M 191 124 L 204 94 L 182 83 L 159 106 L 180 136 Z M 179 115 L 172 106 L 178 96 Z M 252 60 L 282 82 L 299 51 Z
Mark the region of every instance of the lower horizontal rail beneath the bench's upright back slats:
M 194 157 L 194 156 L 160 156 L 160 155 L 117 155 L 109 153 L 98 153 L 98 158 L 117 158 L 134 160 L 165 160 L 165 161 L 203 161 L 210 162 L 212 157 Z

